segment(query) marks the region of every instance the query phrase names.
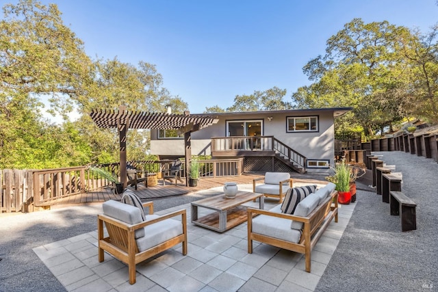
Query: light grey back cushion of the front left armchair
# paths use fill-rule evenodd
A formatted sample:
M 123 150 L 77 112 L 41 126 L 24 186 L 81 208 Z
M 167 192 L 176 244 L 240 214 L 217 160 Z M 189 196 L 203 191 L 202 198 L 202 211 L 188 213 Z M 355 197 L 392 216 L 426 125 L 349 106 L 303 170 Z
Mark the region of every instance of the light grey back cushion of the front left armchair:
M 102 204 L 103 214 L 113 217 L 114 219 L 125 222 L 126 224 L 133 225 L 143 222 L 140 210 L 137 207 L 133 207 L 129 204 L 123 204 L 116 200 L 109 200 Z M 148 218 L 153 219 L 152 217 Z M 136 239 L 144 237 L 144 229 L 140 228 L 136 230 Z

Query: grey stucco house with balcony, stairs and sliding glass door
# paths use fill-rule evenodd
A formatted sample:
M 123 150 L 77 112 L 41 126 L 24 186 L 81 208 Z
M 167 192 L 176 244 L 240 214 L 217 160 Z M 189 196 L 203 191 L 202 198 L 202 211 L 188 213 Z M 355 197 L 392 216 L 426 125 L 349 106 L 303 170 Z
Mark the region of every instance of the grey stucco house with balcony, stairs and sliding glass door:
M 350 107 L 209 114 L 218 122 L 191 134 L 192 155 L 244 157 L 245 172 L 327 172 L 335 158 L 334 118 Z M 183 133 L 151 130 L 151 154 L 183 157 Z

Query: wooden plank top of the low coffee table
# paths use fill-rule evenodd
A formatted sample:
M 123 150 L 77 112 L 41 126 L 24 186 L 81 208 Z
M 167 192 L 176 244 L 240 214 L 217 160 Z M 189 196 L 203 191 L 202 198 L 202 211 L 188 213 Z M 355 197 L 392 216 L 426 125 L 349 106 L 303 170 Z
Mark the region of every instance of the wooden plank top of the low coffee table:
M 263 194 L 256 194 L 250 191 L 237 191 L 235 198 L 226 198 L 225 194 L 220 194 L 211 198 L 197 200 L 192 202 L 192 205 L 223 211 L 237 207 L 244 202 L 260 198 L 261 196 L 263 196 Z

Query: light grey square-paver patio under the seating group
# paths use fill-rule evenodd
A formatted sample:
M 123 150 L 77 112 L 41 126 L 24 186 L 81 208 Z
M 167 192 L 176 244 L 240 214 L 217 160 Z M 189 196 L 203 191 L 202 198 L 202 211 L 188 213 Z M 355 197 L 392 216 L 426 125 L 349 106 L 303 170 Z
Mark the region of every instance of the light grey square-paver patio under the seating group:
M 258 207 L 258 202 L 246 205 Z M 278 204 L 266 198 L 265 209 Z M 216 233 L 190 222 L 190 204 L 156 212 L 186 209 L 188 255 L 181 245 L 137 265 L 136 284 L 129 284 L 127 265 L 110 254 L 97 259 L 97 232 L 84 233 L 34 248 L 34 252 L 68 291 L 313 291 L 324 274 L 355 204 L 339 206 L 312 251 L 311 273 L 302 254 L 254 242 L 247 252 L 246 223 Z

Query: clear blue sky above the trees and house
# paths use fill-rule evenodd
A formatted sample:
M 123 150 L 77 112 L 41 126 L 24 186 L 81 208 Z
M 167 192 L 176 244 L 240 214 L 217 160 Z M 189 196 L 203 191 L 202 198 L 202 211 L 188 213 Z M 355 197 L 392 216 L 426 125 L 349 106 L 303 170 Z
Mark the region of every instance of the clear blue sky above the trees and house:
M 2 0 L 3 1 L 3 0 Z M 192 113 L 274 86 L 286 101 L 308 85 L 302 67 L 353 18 L 426 33 L 435 0 L 51 0 L 91 57 L 154 64 Z M 3 6 L 3 5 L 2 5 Z

